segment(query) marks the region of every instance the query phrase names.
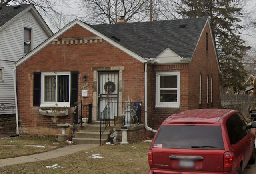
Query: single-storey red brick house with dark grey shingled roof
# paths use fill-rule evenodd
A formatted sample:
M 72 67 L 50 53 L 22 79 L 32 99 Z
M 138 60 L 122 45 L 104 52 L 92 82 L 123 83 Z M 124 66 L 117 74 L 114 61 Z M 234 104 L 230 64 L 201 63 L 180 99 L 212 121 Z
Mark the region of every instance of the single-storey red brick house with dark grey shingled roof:
M 72 104 L 80 100 L 92 104 L 92 123 L 108 97 L 142 102 L 144 126 L 139 135 L 128 134 L 129 141 L 150 136 L 176 112 L 220 107 L 220 69 L 207 17 L 104 25 L 74 20 L 17 61 L 16 69 L 22 133 L 58 134 L 56 124 L 70 123 Z M 106 90 L 107 83 L 112 88 Z M 56 122 L 38 112 L 56 105 L 68 108 Z

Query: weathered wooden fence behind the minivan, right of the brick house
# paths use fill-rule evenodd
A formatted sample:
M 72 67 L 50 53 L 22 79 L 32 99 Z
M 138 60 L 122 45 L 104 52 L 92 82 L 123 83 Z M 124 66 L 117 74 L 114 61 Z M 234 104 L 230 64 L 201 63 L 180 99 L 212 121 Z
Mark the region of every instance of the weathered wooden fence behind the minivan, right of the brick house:
M 250 117 L 249 109 L 256 104 L 256 98 L 246 94 L 220 94 L 221 106 L 227 109 L 236 109 L 244 117 Z

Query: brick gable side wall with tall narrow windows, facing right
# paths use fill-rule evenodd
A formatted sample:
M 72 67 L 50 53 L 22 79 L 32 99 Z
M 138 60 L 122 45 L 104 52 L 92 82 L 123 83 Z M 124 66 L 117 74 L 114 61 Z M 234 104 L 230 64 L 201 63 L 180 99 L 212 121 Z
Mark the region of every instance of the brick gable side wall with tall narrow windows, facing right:
M 206 32 L 208 33 L 208 52 L 206 51 Z M 220 90 L 219 90 L 219 70 L 215 57 L 214 45 L 212 44 L 210 30 L 206 25 L 205 30 L 202 33 L 201 39 L 198 42 L 198 47 L 194 52 L 192 61 L 189 67 L 189 100 L 188 108 L 220 108 Z M 202 74 L 202 93 L 201 104 L 199 104 L 199 79 Z M 208 94 L 209 100 L 207 103 L 207 76 L 208 82 Z M 212 82 L 212 103 L 211 98 L 211 82 Z

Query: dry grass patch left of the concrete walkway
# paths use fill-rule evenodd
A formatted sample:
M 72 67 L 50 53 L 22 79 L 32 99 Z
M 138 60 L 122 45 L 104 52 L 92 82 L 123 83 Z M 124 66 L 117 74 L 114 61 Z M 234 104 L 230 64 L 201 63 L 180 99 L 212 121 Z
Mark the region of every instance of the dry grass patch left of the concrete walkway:
M 67 145 L 67 142 L 59 143 L 56 138 L 30 136 L 4 137 L 0 139 L 0 159 L 47 152 Z

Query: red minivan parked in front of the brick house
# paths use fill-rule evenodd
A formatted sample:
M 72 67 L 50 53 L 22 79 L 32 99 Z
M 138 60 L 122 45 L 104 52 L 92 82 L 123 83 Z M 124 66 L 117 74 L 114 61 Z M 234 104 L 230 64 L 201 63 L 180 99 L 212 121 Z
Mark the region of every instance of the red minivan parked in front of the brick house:
M 229 109 L 195 109 L 166 118 L 148 150 L 148 174 L 242 174 L 255 163 L 255 136 Z

